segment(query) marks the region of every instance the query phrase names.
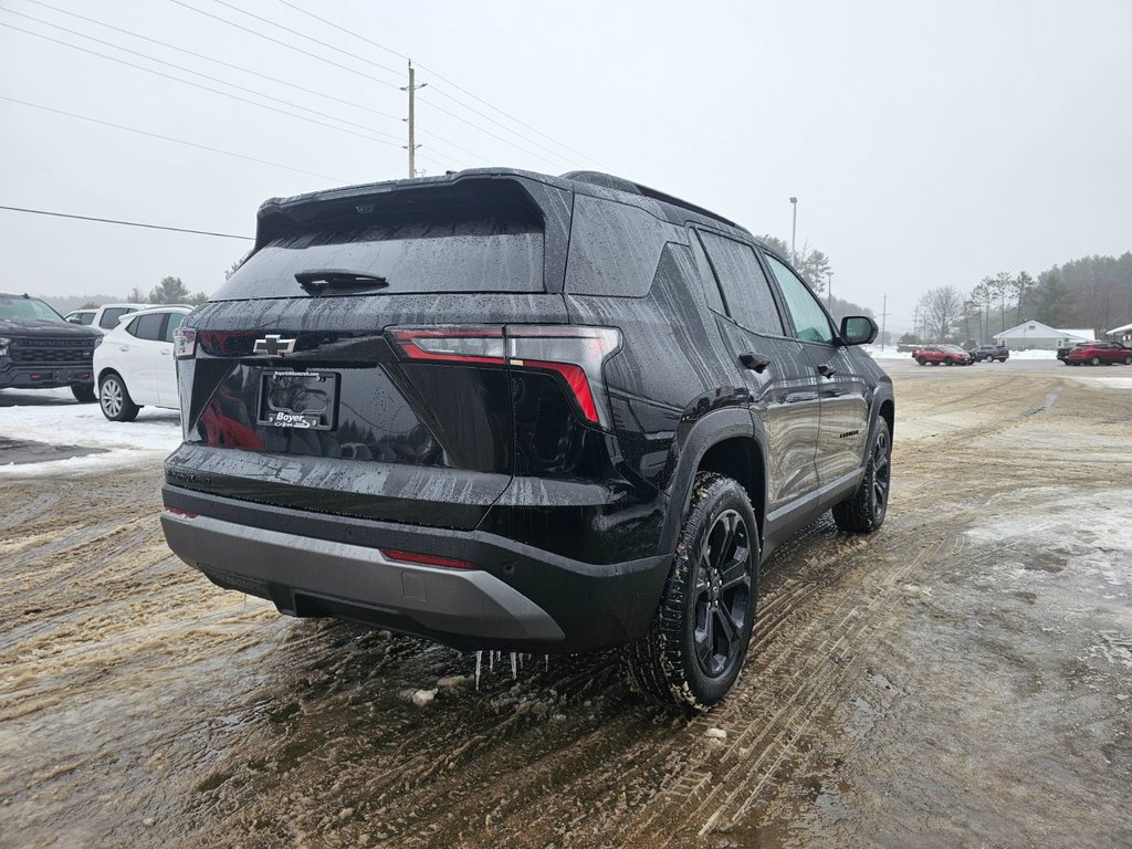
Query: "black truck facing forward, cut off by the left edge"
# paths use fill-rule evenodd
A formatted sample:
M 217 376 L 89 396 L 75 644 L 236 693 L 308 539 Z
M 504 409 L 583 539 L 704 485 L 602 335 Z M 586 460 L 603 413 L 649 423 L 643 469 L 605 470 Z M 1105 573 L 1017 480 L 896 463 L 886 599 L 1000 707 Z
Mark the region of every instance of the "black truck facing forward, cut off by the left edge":
M 94 349 L 102 333 L 74 325 L 38 298 L 0 292 L 0 388 L 69 386 L 94 402 Z

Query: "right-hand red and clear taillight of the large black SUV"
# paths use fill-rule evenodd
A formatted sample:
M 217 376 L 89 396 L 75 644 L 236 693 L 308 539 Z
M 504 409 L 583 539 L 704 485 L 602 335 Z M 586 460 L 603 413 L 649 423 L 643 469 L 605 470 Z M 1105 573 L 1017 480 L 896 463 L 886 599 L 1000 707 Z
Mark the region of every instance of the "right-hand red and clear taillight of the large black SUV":
M 552 371 L 588 421 L 610 427 L 602 367 L 621 345 L 620 331 L 614 327 L 446 325 L 394 327 L 389 335 L 411 360 Z

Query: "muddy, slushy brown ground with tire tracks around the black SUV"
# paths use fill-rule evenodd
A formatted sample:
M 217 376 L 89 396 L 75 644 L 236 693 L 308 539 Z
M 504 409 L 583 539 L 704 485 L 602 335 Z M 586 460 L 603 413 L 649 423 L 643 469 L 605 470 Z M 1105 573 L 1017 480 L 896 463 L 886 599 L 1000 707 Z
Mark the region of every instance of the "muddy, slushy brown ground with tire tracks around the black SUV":
M 693 718 L 612 655 L 477 691 L 221 591 L 165 548 L 157 454 L 0 478 L 0 844 L 1132 846 L 1132 369 L 885 365 L 887 522 L 764 565 Z

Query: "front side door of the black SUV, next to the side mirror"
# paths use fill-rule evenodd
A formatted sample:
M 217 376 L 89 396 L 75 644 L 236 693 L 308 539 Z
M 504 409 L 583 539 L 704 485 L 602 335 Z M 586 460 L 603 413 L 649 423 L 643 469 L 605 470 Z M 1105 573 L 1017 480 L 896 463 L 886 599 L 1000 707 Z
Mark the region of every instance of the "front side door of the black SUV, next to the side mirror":
M 864 462 L 868 438 L 868 383 L 857 371 L 822 305 L 786 263 L 764 254 L 778 281 L 794 325 L 809 361 L 809 372 L 818 381 L 821 435 L 817 438 L 817 478 L 827 486 L 851 474 Z

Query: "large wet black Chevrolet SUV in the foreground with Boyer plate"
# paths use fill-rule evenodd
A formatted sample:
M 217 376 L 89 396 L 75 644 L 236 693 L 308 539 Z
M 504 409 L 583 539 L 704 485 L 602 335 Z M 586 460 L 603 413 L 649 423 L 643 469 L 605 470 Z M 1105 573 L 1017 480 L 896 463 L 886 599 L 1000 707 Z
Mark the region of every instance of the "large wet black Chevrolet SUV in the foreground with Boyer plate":
M 178 331 L 170 547 L 214 583 L 461 649 L 621 645 L 705 707 L 758 565 L 884 520 L 892 385 L 746 230 L 604 174 L 266 201 Z

